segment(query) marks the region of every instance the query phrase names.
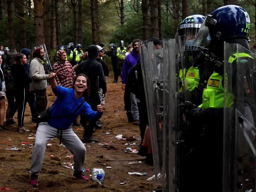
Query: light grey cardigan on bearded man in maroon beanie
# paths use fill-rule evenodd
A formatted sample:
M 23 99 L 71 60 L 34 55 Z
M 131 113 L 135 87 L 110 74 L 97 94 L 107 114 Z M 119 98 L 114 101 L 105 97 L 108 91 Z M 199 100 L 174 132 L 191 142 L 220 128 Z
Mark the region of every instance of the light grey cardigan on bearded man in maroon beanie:
M 46 79 L 48 79 L 48 74 L 45 74 L 42 60 L 37 57 L 30 63 L 30 77 L 32 78 L 30 90 L 42 90 L 47 88 Z

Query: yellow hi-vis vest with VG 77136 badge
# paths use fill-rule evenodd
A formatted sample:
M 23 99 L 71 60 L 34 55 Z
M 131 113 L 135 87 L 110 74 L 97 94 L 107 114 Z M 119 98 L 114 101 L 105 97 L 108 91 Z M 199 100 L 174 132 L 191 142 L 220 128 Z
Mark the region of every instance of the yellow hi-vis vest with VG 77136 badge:
M 190 67 L 189 70 L 187 70 L 186 76 L 185 76 L 185 82 L 184 85 L 187 90 L 193 91 L 195 87 L 198 86 L 200 81 L 199 76 L 199 69 L 197 67 Z

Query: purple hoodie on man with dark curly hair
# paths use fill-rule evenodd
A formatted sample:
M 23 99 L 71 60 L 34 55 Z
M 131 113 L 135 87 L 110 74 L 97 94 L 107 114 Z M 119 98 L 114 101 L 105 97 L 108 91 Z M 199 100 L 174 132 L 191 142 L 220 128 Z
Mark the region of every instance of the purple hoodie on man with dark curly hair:
M 125 57 L 125 61 L 123 62 L 123 70 L 122 70 L 122 83 L 125 84 L 128 74 L 131 70 L 131 68 L 137 64 L 137 61 L 139 60 L 139 55 L 135 53 L 134 50 L 131 51 L 130 54 L 128 54 Z

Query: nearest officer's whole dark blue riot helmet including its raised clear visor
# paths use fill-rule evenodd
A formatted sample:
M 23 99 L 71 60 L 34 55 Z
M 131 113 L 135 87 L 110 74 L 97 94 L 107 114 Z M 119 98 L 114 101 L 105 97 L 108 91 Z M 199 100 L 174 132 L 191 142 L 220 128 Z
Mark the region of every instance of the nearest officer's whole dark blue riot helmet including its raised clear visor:
M 206 48 L 223 59 L 223 43 L 238 43 L 249 49 L 250 18 L 245 9 L 226 5 L 215 9 L 206 18 L 193 45 Z

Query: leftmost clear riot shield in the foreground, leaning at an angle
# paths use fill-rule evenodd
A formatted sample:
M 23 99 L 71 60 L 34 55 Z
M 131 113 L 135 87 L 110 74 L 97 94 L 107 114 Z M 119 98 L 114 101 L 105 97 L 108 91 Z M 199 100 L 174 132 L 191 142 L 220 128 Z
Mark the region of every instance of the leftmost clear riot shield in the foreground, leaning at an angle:
M 162 167 L 163 63 L 157 62 L 153 42 L 142 45 L 140 59 L 149 115 L 154 171 L 155 175 L 159 175 Z M 160 183 L 160 179 L 157 183 Z

